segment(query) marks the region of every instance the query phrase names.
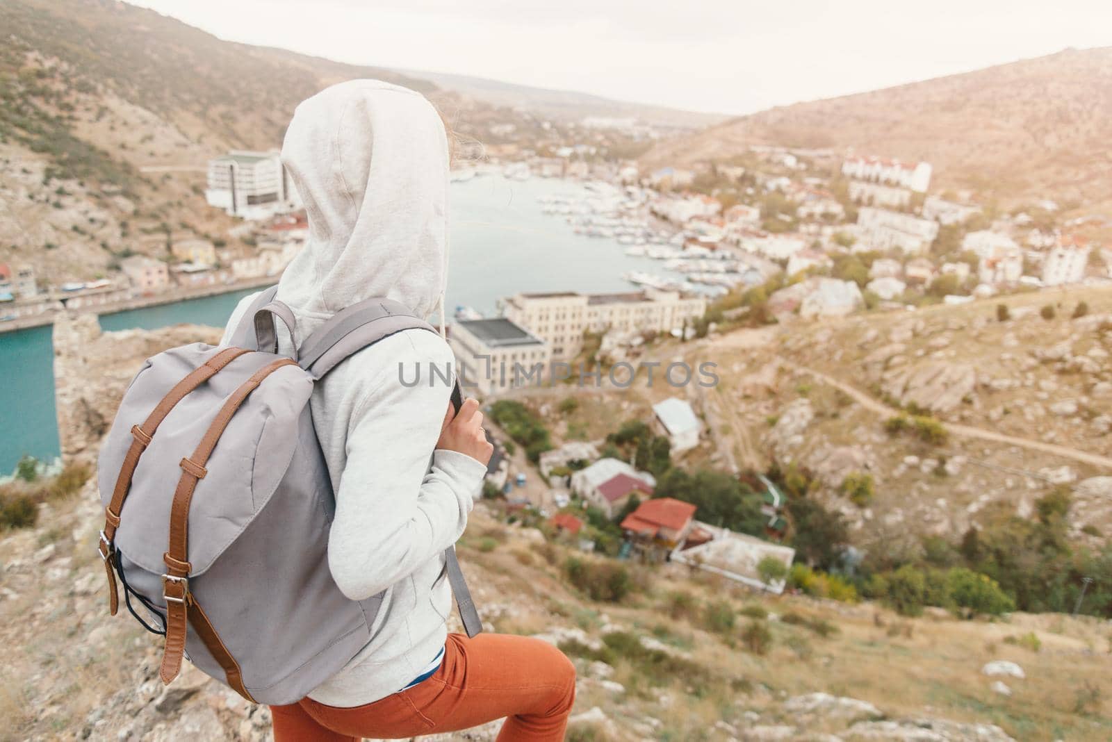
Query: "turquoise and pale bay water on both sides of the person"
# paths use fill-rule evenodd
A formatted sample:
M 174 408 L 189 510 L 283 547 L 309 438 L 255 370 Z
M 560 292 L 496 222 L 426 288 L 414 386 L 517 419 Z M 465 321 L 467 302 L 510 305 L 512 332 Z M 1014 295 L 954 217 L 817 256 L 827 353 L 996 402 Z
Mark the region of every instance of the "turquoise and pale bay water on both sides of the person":
M 512 181 L 497 176 L 453 183 L 449 319 L 460 304 L 493 312 L 499 298 L 518 291 L 628 290 L 624 272 L 658 270 L 653 260 L 626 257 L 615 240 L 576 234 L 563 218 L 540 212 L 538 198 L 582 190 L 566 181 Z M 100 327 L 106 331 L 156 330 L 181 322 L 221 327 L 236 303 L 252 291 L 105 314 Z M 53 459 L 59 453 L 50 327 L 0 333 L 0 379 L 2 475 L 23 454 Z

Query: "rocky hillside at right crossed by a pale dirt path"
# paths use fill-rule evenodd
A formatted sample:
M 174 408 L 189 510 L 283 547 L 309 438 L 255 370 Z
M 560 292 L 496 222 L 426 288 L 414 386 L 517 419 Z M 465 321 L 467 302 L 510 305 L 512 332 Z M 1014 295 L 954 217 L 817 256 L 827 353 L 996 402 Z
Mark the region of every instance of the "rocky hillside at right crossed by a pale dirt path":
M 1108 289 L 742 330 L 686 352 L 723 370 L 704 408 L 717 450 L 806 471 L 862 544 L 956 539 L 1066 485 L 1071 538 L 1093 548 L 1112 532 L 1110 353 Z M 844 487 L 855 473 L 867 502 Z

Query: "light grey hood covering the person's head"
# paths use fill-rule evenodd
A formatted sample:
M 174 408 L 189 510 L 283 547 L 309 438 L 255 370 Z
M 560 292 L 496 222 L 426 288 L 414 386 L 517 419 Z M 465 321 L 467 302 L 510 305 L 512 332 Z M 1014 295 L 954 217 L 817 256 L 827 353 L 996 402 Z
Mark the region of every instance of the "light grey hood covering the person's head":
M 448 144 L 431 103 L 378 80 L 332 86 L 297 107 L 281 161 L 309 237 L 278 299 L 310 325 L 383 295 L 443 317 Z

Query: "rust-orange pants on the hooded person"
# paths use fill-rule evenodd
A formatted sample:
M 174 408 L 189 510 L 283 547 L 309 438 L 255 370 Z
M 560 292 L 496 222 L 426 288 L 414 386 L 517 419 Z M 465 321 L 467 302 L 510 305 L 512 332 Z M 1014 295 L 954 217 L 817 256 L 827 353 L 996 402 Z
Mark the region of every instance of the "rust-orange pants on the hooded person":
M 353 742 L 453 732 L 507 716 L 499 742 L 564 739 L 575 665 L 547 642 L 448 634 L 440 669 L 380 701 L 340 709 L 302 699 L 270 706 L 275 742 Z

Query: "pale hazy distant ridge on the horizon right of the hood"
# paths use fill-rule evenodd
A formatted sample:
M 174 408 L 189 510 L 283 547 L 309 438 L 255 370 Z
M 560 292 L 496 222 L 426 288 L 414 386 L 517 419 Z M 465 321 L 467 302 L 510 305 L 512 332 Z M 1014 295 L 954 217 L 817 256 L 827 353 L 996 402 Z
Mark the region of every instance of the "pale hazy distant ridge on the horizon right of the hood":
M 634 103 L 573 90 L 549 90 L 512 82 L 500 82 L 485 78 L 447 72 L 423 72 L 404 70 L 405 74 L 429 80 L 437 86 L 458 93 L 486 101 L 493 106 L 516 108 L 532 113 L 548 116 L 559 120 L 578 120 L 588 116 L 612 118 L 634 118 L 646 123 L 701 129 L 721 123 L 727 117 L 722 113 L 699 113 L 682 111 L 663 106 Z

